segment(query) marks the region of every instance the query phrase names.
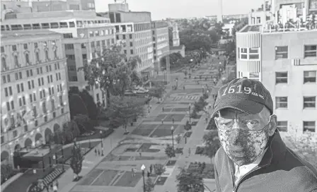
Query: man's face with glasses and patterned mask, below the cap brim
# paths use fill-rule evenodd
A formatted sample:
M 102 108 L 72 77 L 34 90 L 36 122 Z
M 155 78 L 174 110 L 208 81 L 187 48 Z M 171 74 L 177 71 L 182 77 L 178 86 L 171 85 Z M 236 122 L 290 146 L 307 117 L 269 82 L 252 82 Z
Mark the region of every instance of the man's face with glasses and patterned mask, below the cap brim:
M 269 138 L 269 117 L 246 114 L 236 109 L 223 109 L 215 118 L 221 145 L 239 166 L 254 162 L 263 152 Z

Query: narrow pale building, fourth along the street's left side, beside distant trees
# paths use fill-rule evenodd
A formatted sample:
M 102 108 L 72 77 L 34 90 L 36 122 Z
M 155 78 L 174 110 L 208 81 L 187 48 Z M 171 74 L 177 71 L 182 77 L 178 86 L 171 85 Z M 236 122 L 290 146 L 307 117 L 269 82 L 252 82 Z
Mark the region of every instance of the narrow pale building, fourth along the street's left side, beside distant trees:
M 157 73 L 161 71 L 161 58 L 170 54 L 168 23 L 164 20 L 152 21 L 152 40 L 153 40 L 153 55 L 154 68 Z M 169 66 L 166 70 L 169 73 Z

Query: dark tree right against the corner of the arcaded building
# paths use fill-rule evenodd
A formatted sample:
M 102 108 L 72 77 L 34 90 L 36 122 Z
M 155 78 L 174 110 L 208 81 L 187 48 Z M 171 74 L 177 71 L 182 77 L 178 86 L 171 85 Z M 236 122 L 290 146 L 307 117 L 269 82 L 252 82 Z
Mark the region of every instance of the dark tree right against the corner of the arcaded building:
M 88 115 L 86 104 L 81 100 L 81 96 L 78 94 L 69 94 L 69 111 L 71 119 L 77 114 Z

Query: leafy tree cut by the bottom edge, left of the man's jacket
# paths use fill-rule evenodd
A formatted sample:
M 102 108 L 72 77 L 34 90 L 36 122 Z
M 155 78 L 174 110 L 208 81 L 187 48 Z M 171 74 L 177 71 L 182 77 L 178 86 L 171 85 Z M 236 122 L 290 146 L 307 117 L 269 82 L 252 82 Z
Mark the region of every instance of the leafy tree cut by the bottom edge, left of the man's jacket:
M 188 169 L 180 168 L 180 173 L 176 176 L 178 181 L 178 192 L 192 191 L 201 192 L 204 191 L 204 184 L 202 174 L 198 172 L 188 172 Z

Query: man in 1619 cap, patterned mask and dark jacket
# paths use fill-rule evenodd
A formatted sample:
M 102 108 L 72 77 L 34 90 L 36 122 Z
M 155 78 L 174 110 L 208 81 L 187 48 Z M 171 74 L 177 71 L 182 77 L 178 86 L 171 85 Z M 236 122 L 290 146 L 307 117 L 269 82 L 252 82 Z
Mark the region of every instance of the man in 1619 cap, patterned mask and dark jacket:
M 222 145 L 214 157 L 218 192 L 317 191 L 316 167 L 284 144 L 273 109 L 258 80 L 219 88 L 212 114 Z

